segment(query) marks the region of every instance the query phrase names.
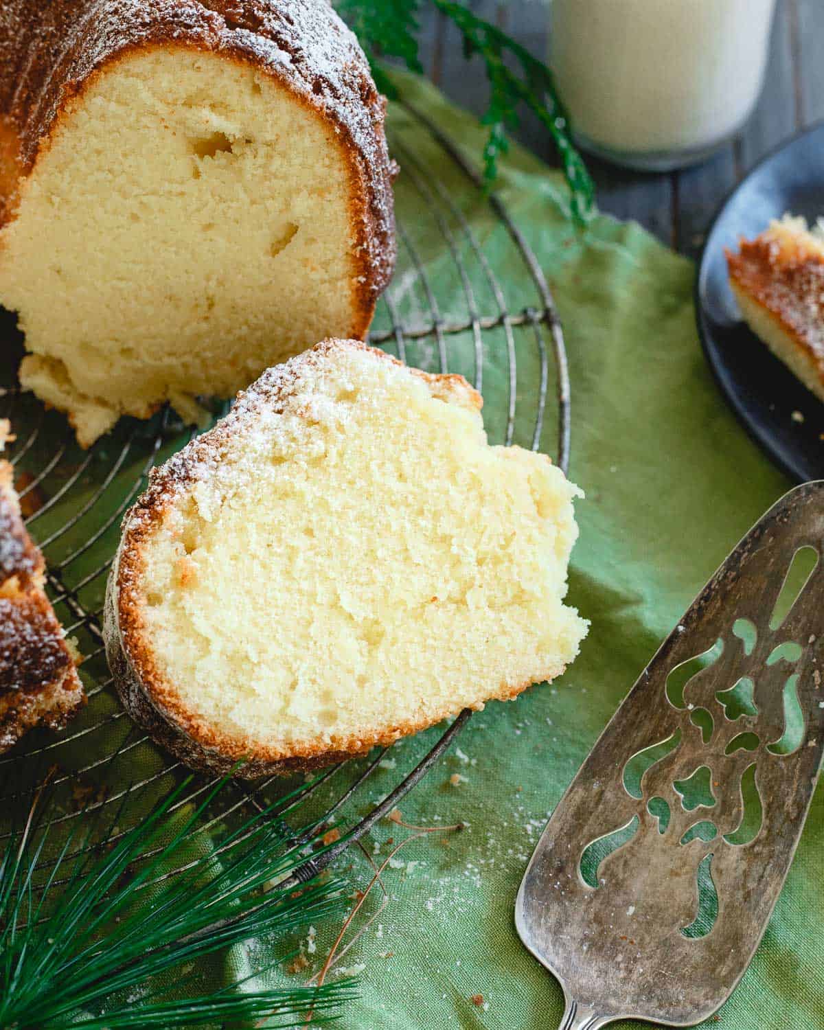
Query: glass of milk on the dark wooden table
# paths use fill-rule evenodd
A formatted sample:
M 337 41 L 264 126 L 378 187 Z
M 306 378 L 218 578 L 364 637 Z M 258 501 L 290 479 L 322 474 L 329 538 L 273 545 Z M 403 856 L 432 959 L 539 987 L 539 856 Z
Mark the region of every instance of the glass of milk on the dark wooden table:
M 700 161 L 747 121 L 776 0 L 552 0 L 551 65 L 581 145 L 618 164 Z

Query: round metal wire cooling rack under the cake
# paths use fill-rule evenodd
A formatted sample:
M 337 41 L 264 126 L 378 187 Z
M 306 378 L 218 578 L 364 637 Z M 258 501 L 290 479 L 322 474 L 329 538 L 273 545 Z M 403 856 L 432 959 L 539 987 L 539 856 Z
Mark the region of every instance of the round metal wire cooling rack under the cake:
M 396 183 L 399 261 L 371 343 L 427 371 L 461 372 L 484 393 L 492 442 L 554 453 L 565 471 L 566 353 L 536 255 L 503 202 L 483 192 L 478 173 L 435 124 L 397 103 L 389 125 L 390 149 L 402 167 Z M 20 350 L 19 343 L 6 343 L 15 339 L 13 319 L 0 322 L 0 339 L 6 353 Z M 143 489 L 149 469 L 193 434 L 167 409 L 148 422 L 123 419 L 91 450 L 81 451 L 64 416 L 19 390 L 14 365 L 12 359 L 0 369 L 0 382 L 6 384 L 0 417 L 11 420 L 16 435 L 10 460 L 24 513 L 46 557 L 58 617 L 84 656 L 80 674 L 89 705 L 61 733 L 36 730 L 0 758 L 0 849 L 14 814 L 28 809 L 46 774 L 58 805 L 54 822 L 68 829 L 98 813 L 112 824 L 116 838 L 186 770 L 134 726 L 116 700 L 102 644 L 105 580 L 122 517 Z M 550 397 L 557 404 L 554 428 L 545 417 Z M 232 781 L 218 795 L 210 821 L 250 815 L 279 798 L 280 816 L 300 805 L 305 823 L 308 813 L 315 824 L 337 820 L 347 832 L 298 870 L 296 879 L 306 881 L 399 803 L 471 714 L 461 712 L 445 731 L 435 727 L 333 766 L 308 783 L 295 778 Z M 392 760 L 386 759 L 389 751 Z M 211 783 L 196 777 L 177 808 L 202 797 Z M 92 846 L 84 840 L 77 851 Z

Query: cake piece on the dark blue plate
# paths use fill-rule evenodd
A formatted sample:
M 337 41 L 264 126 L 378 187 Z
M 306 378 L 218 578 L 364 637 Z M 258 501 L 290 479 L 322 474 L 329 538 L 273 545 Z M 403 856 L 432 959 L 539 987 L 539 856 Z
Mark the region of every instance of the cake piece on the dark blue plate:
M 785 215 L 726 253 L 747 324 L 824 401 L 824 231 Z

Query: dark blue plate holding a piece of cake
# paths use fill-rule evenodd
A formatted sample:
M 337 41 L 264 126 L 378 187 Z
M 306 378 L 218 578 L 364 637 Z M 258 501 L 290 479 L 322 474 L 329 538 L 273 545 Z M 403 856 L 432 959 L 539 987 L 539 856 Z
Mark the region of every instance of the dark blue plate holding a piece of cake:
M 774 461 L 803 482 L 824 479 L 824 404 L 742 321 L 724 259 L 724 247 L 757 236 L 787 211 L 811 222 L 824 215 L 824 123 L 768 154 L 724 202 L 703 246 L 695 310 L 705 354 L 732 410 Z

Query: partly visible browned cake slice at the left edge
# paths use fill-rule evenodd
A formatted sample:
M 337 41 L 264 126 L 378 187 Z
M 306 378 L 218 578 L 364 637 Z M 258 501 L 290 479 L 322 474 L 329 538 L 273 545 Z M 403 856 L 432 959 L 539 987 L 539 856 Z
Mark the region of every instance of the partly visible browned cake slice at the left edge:
M 7 439 L 8 422 L 0 419 L 0 449 Z M 23 524 L 12 467 L 0 461 L 0 754 L 34 726 L 60 729 L 84 701 L 44 579 L 43 556 Z

